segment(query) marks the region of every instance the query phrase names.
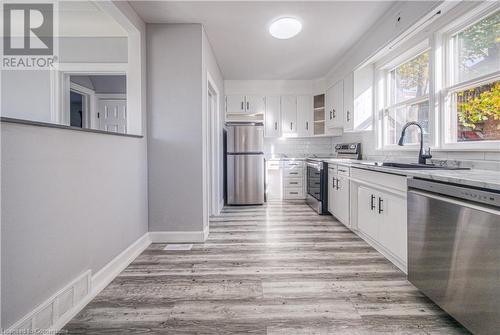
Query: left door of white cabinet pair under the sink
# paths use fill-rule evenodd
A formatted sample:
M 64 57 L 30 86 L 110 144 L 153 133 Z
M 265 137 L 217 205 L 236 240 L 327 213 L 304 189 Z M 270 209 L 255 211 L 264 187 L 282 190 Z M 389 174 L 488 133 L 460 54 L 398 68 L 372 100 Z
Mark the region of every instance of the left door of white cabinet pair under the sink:
M 358 188 L 358 229 L 378 240 L 379 217 L 377 213 L 377 192 L 371 188 Z

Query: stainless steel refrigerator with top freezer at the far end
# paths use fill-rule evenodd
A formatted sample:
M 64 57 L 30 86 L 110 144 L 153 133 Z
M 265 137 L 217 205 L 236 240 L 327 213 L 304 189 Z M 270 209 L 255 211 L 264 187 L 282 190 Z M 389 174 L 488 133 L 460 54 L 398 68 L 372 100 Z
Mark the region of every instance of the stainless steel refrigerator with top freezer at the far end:
M 226 123 L 228 205 L 264 203 L 264 125 Z

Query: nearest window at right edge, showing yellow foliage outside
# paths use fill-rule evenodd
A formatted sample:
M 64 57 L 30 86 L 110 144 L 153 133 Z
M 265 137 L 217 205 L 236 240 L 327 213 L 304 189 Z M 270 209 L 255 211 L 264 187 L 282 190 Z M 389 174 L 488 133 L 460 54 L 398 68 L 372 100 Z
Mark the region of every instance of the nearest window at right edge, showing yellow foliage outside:
M 489 13 L 448 35 L 446 144 L 500 140 L 500 10 Z

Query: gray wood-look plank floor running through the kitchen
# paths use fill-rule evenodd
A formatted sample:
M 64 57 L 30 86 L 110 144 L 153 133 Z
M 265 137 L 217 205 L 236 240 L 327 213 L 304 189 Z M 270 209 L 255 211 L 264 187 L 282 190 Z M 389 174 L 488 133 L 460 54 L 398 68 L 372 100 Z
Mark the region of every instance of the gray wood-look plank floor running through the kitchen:
M 152 244 L 69 334 L 466 334 L 401 271 L 300 202 L 226 207 L 191 251 Z

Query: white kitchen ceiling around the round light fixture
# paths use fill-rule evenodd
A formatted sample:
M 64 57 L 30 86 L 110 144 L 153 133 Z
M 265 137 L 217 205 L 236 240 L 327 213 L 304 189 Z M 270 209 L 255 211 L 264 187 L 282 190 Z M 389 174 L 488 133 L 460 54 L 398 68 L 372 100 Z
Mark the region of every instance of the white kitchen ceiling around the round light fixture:
M 392 1 L 131 1 L 148 23 L 202 23 L 225 79 L 324 76 Z M 268 33 L 281 16 L 302 21 L 289 40 Z

